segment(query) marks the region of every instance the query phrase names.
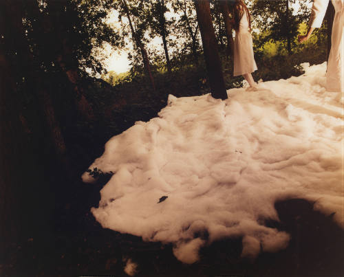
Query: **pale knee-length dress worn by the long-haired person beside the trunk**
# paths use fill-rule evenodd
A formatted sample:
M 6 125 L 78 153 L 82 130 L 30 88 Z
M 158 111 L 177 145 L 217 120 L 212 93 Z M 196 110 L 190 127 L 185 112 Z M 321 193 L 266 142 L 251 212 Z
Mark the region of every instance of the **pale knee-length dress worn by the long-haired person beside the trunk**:
M 252 35 L 244 10 L 239 23 L 239 32 L 235 32 L 233 76 L 252 73 L 255 70 L 257 70 L 257 65 L 253 56 Z

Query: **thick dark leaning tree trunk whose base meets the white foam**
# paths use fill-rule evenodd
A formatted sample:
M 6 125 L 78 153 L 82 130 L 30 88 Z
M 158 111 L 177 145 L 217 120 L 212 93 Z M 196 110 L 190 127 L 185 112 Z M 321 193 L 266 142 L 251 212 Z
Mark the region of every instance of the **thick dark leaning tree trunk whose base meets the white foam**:
M 226 87 L 224 85 L 224 75 L 222 64 L 217 51 L 215 30 L 211 20 L 211 10 L 208 0 L 194 0 L 197 20 L 200 25 L 204 58 L 211 85 L 211 95 L 213 98 L 227 99 Z

